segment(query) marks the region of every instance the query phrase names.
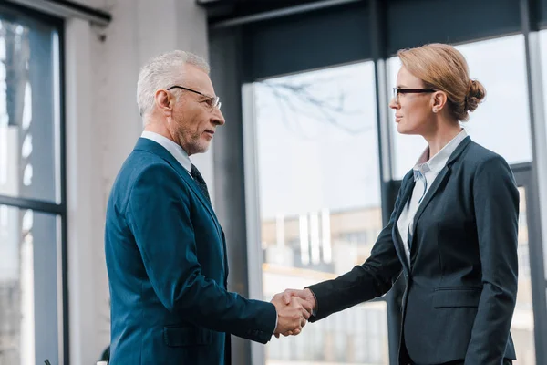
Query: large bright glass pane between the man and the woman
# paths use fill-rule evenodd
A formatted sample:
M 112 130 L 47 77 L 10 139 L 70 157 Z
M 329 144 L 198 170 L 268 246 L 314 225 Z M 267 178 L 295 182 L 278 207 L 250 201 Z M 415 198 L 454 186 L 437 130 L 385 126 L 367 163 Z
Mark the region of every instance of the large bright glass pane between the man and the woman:
M 254 84 L 264 299 L 370 255 L 382 229 L 374 85 L 372 62 Z M 387 364 L 386 303 L 346 309 L 266 349 L 269 365 Z

